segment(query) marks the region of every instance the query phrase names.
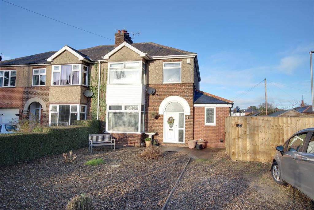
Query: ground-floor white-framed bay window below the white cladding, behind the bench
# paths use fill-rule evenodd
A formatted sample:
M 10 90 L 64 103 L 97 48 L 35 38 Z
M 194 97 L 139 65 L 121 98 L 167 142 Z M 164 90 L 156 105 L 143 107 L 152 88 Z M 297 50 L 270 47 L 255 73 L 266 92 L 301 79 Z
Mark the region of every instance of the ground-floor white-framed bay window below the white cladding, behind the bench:
M 110 133 L 143 133 L 145 105 L 107 105 L 106 131 Z

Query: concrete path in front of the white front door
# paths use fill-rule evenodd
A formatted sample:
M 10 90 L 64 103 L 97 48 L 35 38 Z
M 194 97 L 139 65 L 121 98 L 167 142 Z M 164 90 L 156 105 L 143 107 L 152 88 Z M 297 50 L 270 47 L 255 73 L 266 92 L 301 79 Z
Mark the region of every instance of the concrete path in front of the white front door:
M 212 148 L 205 148 L 202 150 L 190 149 L 188 147 L 176 147 L 176 146 L 159 146 L 162 151 L 170 152 L 185 152 L 188 153 L 192 159 L 211 159 L 212 158 Z

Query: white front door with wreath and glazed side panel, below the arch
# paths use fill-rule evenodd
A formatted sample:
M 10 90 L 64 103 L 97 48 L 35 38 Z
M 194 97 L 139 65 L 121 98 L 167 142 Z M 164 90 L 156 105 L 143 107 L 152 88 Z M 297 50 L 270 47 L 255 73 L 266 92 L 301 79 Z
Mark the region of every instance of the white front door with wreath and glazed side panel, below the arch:
M 173 124 L 167 121 L 173 118 Z M 164 142 L 184 143 L 184 113 L 182 112 L 165 112 L 164 114 Z

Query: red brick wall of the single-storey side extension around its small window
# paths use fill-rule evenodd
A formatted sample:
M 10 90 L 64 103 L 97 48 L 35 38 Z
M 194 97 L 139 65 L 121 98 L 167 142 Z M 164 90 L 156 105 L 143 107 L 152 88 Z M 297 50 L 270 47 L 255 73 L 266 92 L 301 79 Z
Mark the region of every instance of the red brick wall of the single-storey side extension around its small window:
M 225 148 L 225 117 L 229 116 L 229 107 L 216 107 L 216 126 L 205 125 L 205 107 L 194 107 L 195 140 L 206 140 L 207 147 Z M 224 139 L 221 143 L 220 139 Z

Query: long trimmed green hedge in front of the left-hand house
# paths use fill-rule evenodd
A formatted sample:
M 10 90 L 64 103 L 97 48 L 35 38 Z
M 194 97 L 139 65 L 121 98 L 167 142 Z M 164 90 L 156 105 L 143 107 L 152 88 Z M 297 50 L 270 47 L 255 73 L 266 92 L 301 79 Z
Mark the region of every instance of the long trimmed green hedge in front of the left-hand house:
M 98 120 L 78 120 L 76 124 L 45 127 L 40 133 L 1 134 L 0 165 L 13 165 L 88 146 L 88 134 L 98 133 Z

